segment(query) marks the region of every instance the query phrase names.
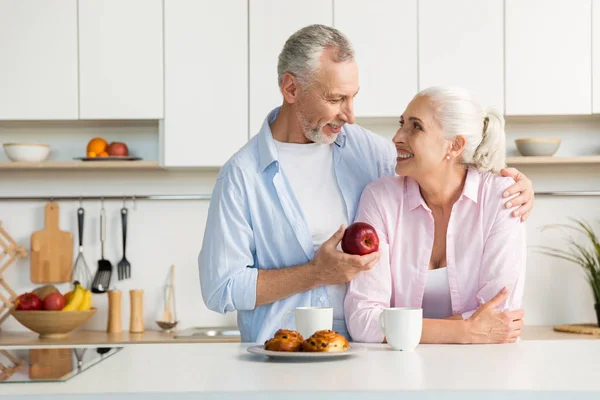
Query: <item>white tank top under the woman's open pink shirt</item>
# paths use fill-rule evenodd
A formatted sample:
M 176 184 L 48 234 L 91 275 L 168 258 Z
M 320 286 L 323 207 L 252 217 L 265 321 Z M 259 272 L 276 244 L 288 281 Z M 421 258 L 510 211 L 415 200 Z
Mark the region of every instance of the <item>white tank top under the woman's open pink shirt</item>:
M 448 267 L 430 269 L 423 294 L 423 318 L 452 316 L 452 301 L 448 284 Z

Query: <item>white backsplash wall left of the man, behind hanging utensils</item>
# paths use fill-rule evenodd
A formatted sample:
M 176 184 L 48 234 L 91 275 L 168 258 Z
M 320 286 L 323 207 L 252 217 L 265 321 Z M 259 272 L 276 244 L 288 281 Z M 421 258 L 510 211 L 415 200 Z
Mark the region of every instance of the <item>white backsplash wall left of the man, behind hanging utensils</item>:
M 191 171 L 52 171 L 3 174 L 0 196 L 9 195 L 122 195 L 122 194 L 206 194 L 210 193 L 216 172 Z M 78 201 L 58 201 L 60 228 L 73 233 L 77 250 Z M 84 255 L 92 273 L 100 258 L 100 201 L 83 201 Z M 235 315 L 222 316 L 204 306 L 198 280 L 197 257 L 202 244 L 208 201 L 137 200 L 127 198 L 129 209 L 127 258 L 131 263 L 131 279 L 118 281 L 113 272 L 111 286 L 122 290 L 123 327 L 129 323 L 129 289 L 144 290 L 144 320 L 147 329 L 156 329 L 155 320 L 161 310 L 161 295 L 171 264 L 175 265 L 175 301 L 181 327 L 235 325 Z M 20 244 L 30 247 L 33 231 L 44 226 L 45 202 L 1 202 L 0 221 Z M 105 257 L 115 267 L 122 256 L 120 209 L 122 200 L 104 201 L 107 216 Z M 75 258 L 73 258 L 75 261 Z M 5 279 L 21 293 L 36 285 L 29 280 L 29 260 L 19 260 L 11 266 Z M 57 285 L 61 292 L 68 284 Z M 86 328 L 106 329 L 107 297 L 94 294 L 96 315 Z M 23 327 L 9 318 L 1 327 L 21 330 Z

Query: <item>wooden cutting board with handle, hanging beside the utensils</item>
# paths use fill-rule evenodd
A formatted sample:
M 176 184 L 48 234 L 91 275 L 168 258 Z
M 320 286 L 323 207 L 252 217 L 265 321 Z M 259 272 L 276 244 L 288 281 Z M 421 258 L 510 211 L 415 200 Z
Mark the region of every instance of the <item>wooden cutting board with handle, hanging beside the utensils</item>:
M 58 203 L 45 208 L 45 226 L 31 235 L 31 282 L 71 281 L 73 235 L 58 226 Z

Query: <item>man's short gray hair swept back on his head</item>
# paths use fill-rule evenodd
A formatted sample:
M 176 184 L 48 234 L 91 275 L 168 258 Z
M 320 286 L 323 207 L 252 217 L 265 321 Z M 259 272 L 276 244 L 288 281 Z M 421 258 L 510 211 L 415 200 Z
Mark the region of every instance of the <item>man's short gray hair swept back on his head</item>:
M 308 85 L 319 67 L 323 50 L 333 48 L 334 61 L 354 58 L 354 49 L 348 38 L 335 28 L 326 25 L 309 25 L 288 38 L 279 54 L 277 75 L 279 87 L 283 75 L 288 72 L 303 86 Z

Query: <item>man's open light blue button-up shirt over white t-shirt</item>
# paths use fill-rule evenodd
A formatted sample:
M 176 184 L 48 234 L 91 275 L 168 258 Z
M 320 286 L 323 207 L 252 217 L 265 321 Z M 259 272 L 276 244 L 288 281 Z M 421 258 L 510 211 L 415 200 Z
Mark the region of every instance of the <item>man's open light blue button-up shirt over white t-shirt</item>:
M 263 343 L 282 328 L 286 311 L 296 307 L 328 307 L 326 286 L 256 307 L 258 269 L 280 269 L 313 259 L 306 219 L 280 167 L 270 124 L 221 168 L 208 210 L 198 257 L 200 287 L 206 306 L 219 313 L 237 311 L 243 342 Z M 364 187 L 394 174 L 396 150 L 390 140 L 346 124 L 333 147 L 333 163 L 348 221 L 353 221 Z M 335 227 L 334 227 L 335 228 Z M 293 318 L 286 328 L 295 329 Z M 344 320 L 333 329 L 348 335 Z

